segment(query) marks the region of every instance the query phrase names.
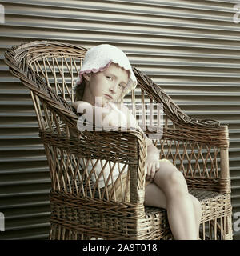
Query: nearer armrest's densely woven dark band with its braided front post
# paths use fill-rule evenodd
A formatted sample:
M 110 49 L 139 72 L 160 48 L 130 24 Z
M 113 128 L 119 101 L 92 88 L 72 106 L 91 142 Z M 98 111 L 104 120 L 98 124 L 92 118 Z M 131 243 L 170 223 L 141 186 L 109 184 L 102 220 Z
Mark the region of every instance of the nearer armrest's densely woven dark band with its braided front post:
M 70 120 L 70 123 L 73 122 L 74 120 Z M 80 158 L 86 158 L 129 165 L 130 203 L 142 204 L 144 202 L 147 150 L 145 137 L 141 130 L 79 132 L 76 124 L 70 136 L 64 134 L 61 136 L 46 130 L 40 130 L 39 135 L 46 146 L 56 148 L 60 146 L 61 150 L 66 150 L 68 154 L 74 156 L 75 162 L 80 162 Z M 73 174 L 70 175 L 74 177 Z

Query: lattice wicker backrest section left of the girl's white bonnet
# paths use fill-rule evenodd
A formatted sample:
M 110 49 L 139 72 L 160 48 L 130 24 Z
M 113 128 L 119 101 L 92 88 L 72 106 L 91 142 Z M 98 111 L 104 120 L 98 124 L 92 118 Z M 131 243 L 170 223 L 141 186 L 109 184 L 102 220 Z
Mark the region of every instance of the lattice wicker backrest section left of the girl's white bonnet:
M 53 42 L 30 46 L 27 60 L 47 86 L 66 101 L 73 102 L 74 80 L 78 78 L 85 53 L 86 48 Z

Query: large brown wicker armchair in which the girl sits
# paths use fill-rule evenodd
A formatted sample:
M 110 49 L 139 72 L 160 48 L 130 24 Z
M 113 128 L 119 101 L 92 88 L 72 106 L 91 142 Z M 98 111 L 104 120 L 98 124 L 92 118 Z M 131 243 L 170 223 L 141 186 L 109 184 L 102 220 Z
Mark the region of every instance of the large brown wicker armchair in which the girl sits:
M 5 53 L 10 72 L 30 89 L 46 150 L 51 178 L 50 239 L 173 238 L 166 210 L 143 204 L 146 142 L 142 131 L 78 130 L 78 114 L 71 102 L 85 53 L 86 48 L 50 41 L 14 46 Z M 190 193 L 202 203 L 200 238 L 232 239 L 228 127 L 190 118 L 160 86 L 136 68 L 134 73 L 138 86 L 123 103 L 134 106 L 136 117 L 141 105 L 143 125 L 146 106 L 162 103 L 163 134 L 153 138 L 154 145 L 160 158 L 170 159 L 182 171 Z M 145 132 L 150 136 L 155 131 Z M 91 175 L 87 171 L 93 159 L 118 166 L 118 187 L 115 182 L 111 188 L 99 188 L 93 182 L 95 166 Z M 127 189 L 122 200 L 117 200 L 114 194 L 121 189 L 123 169 L 127 170 Z

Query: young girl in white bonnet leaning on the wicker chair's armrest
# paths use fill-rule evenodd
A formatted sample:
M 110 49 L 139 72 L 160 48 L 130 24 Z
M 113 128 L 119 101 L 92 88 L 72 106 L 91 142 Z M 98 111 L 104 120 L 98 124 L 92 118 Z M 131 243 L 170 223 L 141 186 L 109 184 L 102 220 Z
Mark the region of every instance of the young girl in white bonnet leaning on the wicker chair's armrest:
M 79 113 L 89 109 L 93 114 L 102 111 L 102 120 L 107 120 L 110 126 L 129 124 L 141 130 L 128 108 L 121 104 L 122 98 L 136 84 L 130 62 L 122 50 L 110 45 L 94 46 L 86 52 L 73 106 Z M 119 116 L 121 118 L 116 118 Z M 146 135 L 145 138 L 145 205 L 167 210 L 174 239 L 198 239 L 202 217 L 200 202 L 188 193 L 183 174 L 170 161 L 159 160 L 159 150 Z

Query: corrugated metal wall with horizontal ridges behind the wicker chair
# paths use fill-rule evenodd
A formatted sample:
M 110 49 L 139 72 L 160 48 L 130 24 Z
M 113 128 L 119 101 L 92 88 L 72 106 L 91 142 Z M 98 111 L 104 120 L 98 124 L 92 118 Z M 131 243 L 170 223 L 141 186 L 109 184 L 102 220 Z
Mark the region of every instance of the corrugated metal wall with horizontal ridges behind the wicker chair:
M 34 40 L 124 50 L 186 114 L 230 125 L 234 213 L 240 212 L 239 1 L 0 1 L 0 239 L 46 239 L 49 170 L 29 91 L 4 63 L 6 48 Z M 240 15 L 239 15 L 240 17 Z M 240 21 L 240 18 L 239 18 Z M 235 219 L 233 220 L 236 221 Z M 234 231 L 240 239 L 240 232 Z

